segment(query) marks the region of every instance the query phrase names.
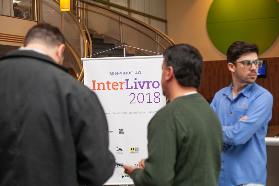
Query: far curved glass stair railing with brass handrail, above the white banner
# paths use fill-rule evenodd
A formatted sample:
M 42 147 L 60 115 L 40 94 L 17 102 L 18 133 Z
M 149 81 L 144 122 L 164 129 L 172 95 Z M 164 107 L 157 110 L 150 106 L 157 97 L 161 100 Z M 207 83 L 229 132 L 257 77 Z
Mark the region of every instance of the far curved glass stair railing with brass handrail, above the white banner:
M 89 30 L 124 45 L 151 51 L 140 51 L 144 55 L 154 55 L 152 52 L 162 54 L 166 48 L 175 45 L 158 29 L 119 11 L 85 0 L 76 2 L 76 11 Z

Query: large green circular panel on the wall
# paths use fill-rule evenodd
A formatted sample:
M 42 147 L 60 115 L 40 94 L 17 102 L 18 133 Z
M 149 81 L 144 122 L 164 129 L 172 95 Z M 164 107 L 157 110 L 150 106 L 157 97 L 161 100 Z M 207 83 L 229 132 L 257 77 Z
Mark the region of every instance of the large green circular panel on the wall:
M 247 41 L 266 51 L 279 34 L 277 0 L 214 0 L 207 15 L 207 32 L 214 46 L 226 54 L 235 41 Z

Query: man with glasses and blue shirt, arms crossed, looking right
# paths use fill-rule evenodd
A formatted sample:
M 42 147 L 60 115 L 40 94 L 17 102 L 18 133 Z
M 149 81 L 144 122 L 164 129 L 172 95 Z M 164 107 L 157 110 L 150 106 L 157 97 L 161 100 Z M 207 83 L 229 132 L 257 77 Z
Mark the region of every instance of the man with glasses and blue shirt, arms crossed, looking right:
M 210 106 L 223 129 L 224 147 L 219 186 L 263 186 L 266 182 L 265 136 L 273 96 L 255 83 L 263 61 L 259 47 L 234 42 L 227 51 L 232 83 L 218 91 Z

